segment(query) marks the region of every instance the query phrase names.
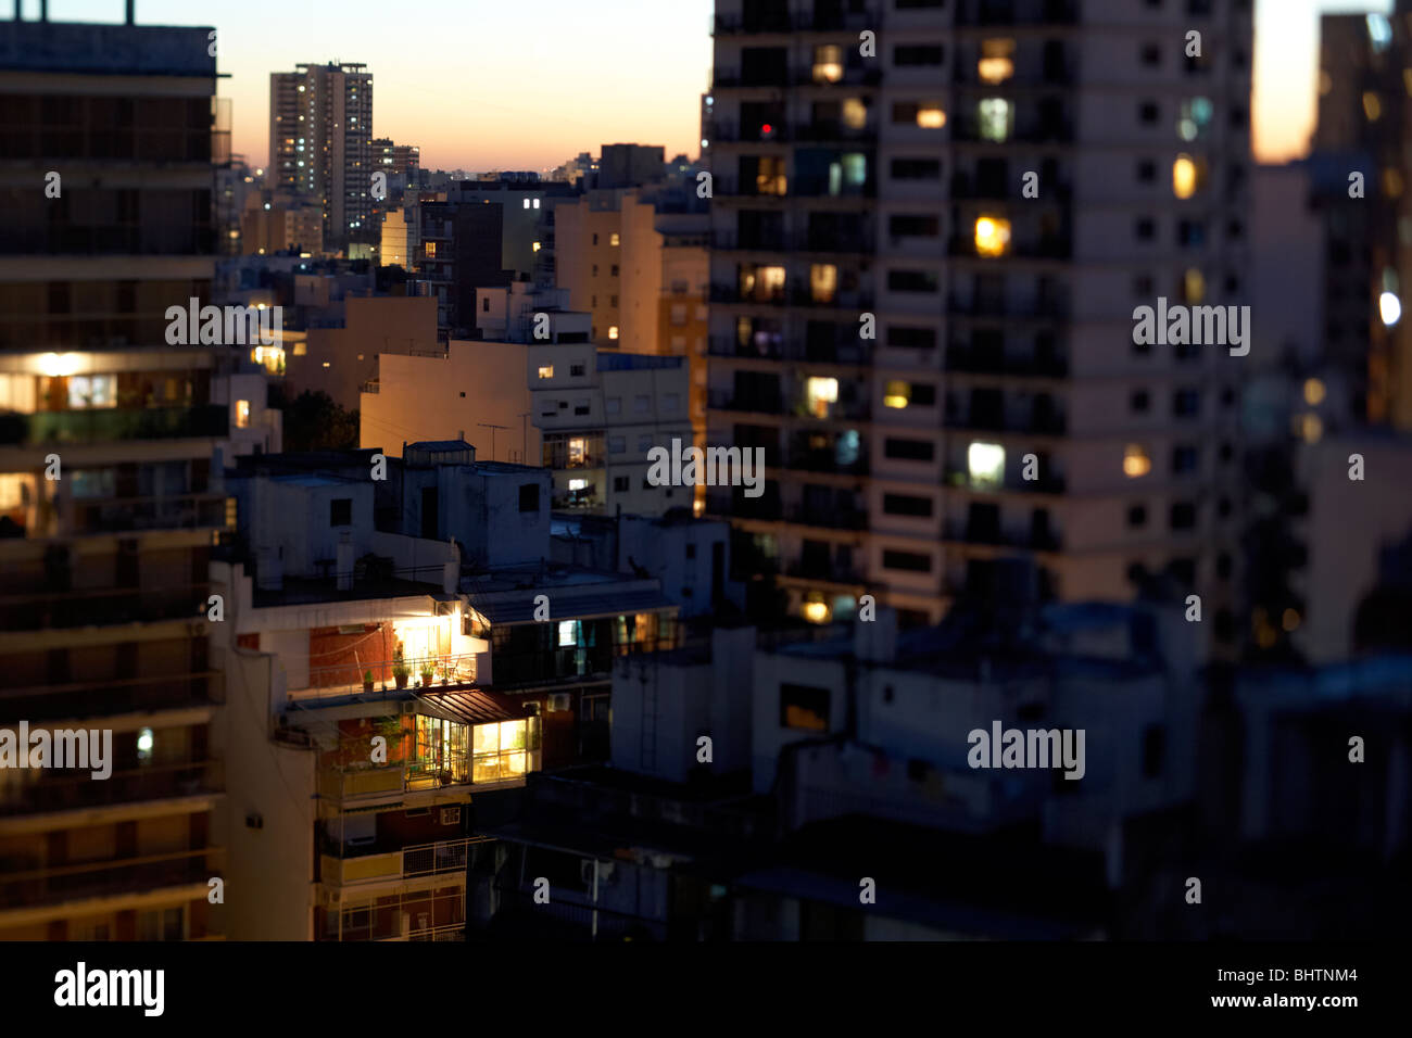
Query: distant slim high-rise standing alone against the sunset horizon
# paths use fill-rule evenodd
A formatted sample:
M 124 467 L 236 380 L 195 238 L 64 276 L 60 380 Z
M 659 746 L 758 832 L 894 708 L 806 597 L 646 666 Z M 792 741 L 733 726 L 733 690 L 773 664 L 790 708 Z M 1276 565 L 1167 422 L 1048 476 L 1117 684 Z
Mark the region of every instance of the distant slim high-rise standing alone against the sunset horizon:
M 373 195 L 373 73 L 367 65 L 297 65 L 270 73 L 267 186 L 323 206 L 325 246 L 359 251 L 377 240 Z

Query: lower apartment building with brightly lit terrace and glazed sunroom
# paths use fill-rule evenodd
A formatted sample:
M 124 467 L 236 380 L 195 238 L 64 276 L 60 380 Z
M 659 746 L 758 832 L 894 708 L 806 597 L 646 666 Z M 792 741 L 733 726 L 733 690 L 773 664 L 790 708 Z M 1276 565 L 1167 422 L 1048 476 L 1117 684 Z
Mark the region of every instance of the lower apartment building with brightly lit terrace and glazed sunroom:
M 613 661 L 675 645 L 655 580 L 546 562 L 542 469 L 448 441 L 373 480 L 374 453 L 227 473 L 232 936 L 462 939 L 477 812 L 604 758 Z

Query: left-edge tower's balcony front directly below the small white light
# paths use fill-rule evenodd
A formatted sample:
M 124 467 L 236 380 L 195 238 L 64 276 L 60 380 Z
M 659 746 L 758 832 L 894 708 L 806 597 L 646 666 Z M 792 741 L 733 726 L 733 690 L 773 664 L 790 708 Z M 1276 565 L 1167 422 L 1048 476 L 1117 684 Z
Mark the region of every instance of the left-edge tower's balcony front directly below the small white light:
M 96 781 L 88 771 L 20 771 L 20 782 L 6 787 L 0 815 L 42 815 L 51 811 L 104 808 L 116 804 L 213 795 L 225 791 L 217 760 L 148 764 L 114 771 Z

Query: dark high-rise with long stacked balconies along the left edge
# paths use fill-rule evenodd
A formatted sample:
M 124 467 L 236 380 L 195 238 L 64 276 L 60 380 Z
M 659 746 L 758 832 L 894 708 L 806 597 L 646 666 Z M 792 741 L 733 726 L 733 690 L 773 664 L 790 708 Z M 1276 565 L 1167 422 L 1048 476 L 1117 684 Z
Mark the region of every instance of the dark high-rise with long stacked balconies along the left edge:
M 167 336 L 216 264 L 209 31 L 0 23 L 0 941 L 223 933 L 212 462 L 280 441 Z

